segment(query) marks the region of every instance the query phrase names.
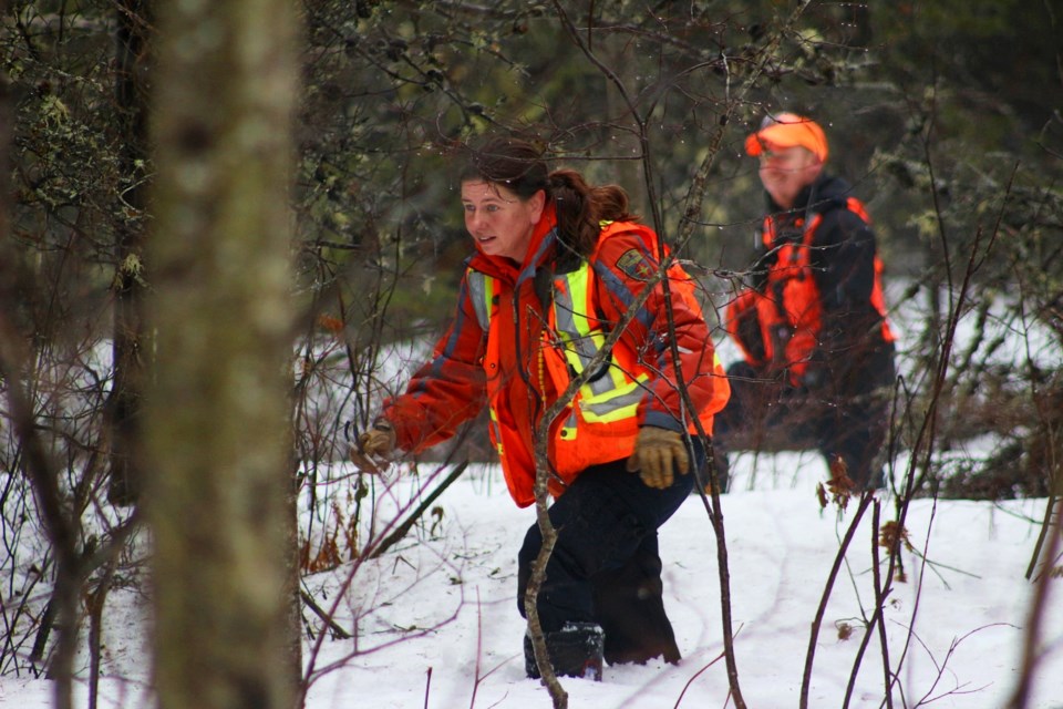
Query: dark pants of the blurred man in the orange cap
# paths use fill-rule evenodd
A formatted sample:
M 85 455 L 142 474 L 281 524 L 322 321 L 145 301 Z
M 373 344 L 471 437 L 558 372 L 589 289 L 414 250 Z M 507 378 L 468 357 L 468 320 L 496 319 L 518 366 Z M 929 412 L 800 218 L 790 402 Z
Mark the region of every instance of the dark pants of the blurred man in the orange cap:
M 718 464 L 726 470 L 729 450 L 815 448 L 828 465 L 840 459 L 858 487 L 881 487 L 879 453 L 889 427 L 895 377 L 894 348 L 888 343 L 861 362 L 839 360 L 814 389 L 791 386 L 785 372 L 773 374 L 735 362 L 727 368 L 731 399 L 714 422 Z

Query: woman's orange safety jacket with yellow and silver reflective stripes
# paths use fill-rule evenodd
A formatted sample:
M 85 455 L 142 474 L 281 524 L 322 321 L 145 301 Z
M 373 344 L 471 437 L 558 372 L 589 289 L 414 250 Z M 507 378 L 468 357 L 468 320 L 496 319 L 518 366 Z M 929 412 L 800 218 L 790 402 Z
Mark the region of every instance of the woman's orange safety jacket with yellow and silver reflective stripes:
M 486 403 L 491 440 L 519 506 L 535 501 L 535 438 L 541 417 L 584 372 L 592 371 L 548 428 L 549 489 L 555 496 L 588 466 L 628 458 L 641 425 L 696 433 L 696 419 L 710 434 L 713 414 L 730 397 L 694 284 L 678 265 L 668 273 L 674 330 L 658 284 L 608 357 L 597 357 L 657 273 L 657 235 L 637 223 L 605 224 L 590 259 L 581 259 L 569 273 L 539 277 L 540 292 L 548 284 L 544 299 L 536 294 L 535 274 L 557 265 L 553 218 L 550 209 L 544 219 L 549 230 L 544 234 L 540 223 L 519 269 L 483 254 L 469 259 L 455 326 L 407 392 L 384 407 L 399 444 L 419 450 L 447 438 L 458 419 L 475 415 Z M 673 338 L 694 412 L 684 407 L 677 384 Z M 475 352 L 458 351 L 474 340 Z M 475 410 L 454 395 L 466 389 L 466 382 L 455 379 L 471 374 L 472 362 L 481 368 L 476 381 L 482 389 L 472 397 Z

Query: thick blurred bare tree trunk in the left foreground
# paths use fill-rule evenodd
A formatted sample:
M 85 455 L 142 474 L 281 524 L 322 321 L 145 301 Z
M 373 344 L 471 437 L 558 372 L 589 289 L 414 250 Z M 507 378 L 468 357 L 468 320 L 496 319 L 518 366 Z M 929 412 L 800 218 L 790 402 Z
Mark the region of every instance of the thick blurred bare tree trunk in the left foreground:
M 287 0 L 159 9 L 144 507 L 164 709 L 290 709 Z

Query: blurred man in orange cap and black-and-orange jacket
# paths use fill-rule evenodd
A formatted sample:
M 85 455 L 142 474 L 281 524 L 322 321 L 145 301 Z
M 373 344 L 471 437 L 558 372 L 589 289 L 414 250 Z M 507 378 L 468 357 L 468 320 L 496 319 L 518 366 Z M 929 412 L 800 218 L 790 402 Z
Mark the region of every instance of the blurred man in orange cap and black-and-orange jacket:
M 811 440 L 833 476 L 881 487 L 895 337 L 870 218 L 849 184 L 824 172 L 827 138 L 815 121 L 768 116 L 745 150 L 760 161 L 767 215 L 749 287 L 724 317 L 745 359 L 727 369 L 718 464 L 725 475 L 740 434 L 782 433 Z

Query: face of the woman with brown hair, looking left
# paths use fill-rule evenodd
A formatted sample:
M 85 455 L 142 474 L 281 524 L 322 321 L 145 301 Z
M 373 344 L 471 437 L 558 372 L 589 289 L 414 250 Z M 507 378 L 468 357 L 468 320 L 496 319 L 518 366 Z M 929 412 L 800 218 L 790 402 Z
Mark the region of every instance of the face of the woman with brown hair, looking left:
M 506 256 L 524 261 L 532 232 L 543 216 L 546 193 L 541 189 L 528 199 L 494 182 L 473 179 L 462 183 L 465 228 L 488 256 Z

